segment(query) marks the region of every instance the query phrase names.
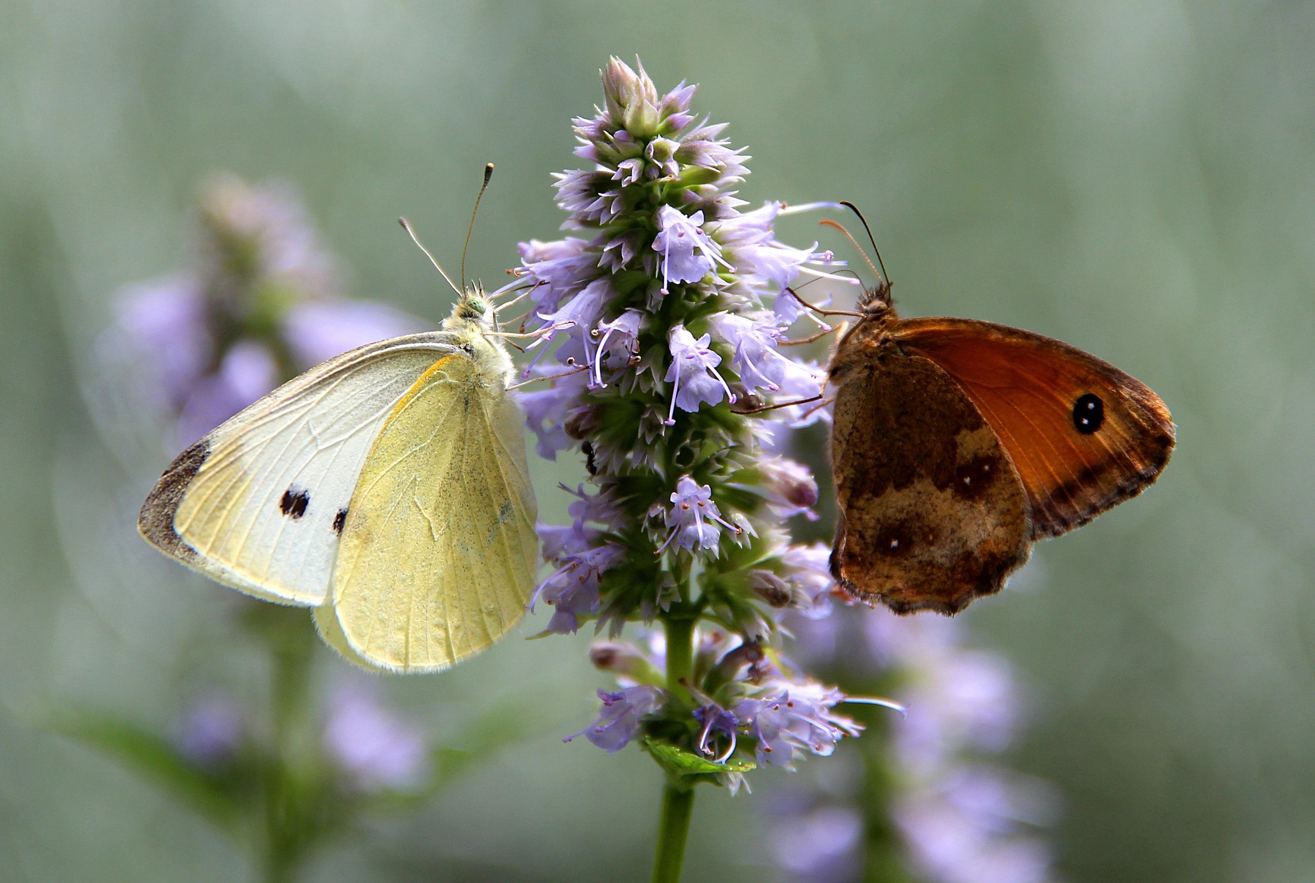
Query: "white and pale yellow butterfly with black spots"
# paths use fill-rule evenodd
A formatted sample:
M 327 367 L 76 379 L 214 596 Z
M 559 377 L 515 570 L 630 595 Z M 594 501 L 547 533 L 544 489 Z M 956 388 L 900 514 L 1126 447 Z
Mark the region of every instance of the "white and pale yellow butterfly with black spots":
M 442 330 L 352 350 L 188 447 L 138 529 L 239 591 L 316 608 L 347 658 L 438 671 L 523 615 L 538 538 L 512 361 L 462 295 Z

